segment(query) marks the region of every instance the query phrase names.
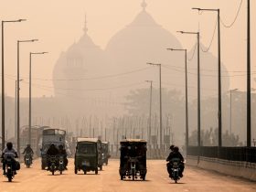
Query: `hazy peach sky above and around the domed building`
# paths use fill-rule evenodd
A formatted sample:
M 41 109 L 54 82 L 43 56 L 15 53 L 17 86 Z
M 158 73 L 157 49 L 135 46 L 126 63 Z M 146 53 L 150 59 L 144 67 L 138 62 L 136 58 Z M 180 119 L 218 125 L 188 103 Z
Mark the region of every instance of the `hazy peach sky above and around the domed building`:
M 201 32 L 201 41 L 208 47 L 217 15 L 203 13 L 198 15 L 191 7 L 220 8 L 224 23 L 230 24 L 237 14 L 241 0 L 147 0 L 147 12 L 155 21 L 173 33 L 184 48 L 192 48 L 195 38 L 176 34 L 176 30 Z M 33 56 L 33 78 L 52 79 L 52 69 L 61 51 L 83 34 L 85 14 L 88 34 L 94 43 L 105 48 L 112 36 L 130 24 L 142 10 L 143 0 L 0 0 L 0 20 L 25 18 L 21 23 L 5 24 L 5 93 L 15 95 L 16 78 L 16 40 L 38 38 L 38 42 L 20 45 L 21 97 L 28 96 L 29 52 L 48 51 L 46 55 Z M 246 87 L 246 11 L 247 1 L 243 0 L 240 15 L 233 27 L 221 26 L 222 62 L 231 71 L 244 71 L 241 76 L 231 78 L 231 89 Z M 256 1 L 251 0 L 251 71 L 256 78 Z M 1 39 L 0 39 L 1 40 Z M 217 38 L 210 51 L 217 56 Z M 0 53 L 1 54 L 1 53 Z M 202 64 L 203 65 L 203 64 Z M 113 71 L 114 73 L 114 71 Z M 232 73 L 233 74 L 233 73 Z M 37 81 L 52 86 L 51 81 Z M 255 81 L 252 87 L 256 88 Z M 33 89 L 33 96 L 53 95 L 52 91 Z

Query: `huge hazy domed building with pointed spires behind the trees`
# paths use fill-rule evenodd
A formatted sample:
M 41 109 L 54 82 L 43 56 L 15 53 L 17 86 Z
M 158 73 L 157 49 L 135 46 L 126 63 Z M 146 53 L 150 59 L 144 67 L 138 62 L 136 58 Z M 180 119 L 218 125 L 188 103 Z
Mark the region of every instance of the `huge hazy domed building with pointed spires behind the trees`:
M 97 90 L 106 90 L 101 95 L 112 94 L 115 101 L 123 101 L 131 90 L 147 88 L 144 80 L 153 80 L 158 88 L 159 72 L 157 67 L 146 63 L 162 64 L 162 87 L 185 91 L 184 55 L 166 48 L 182 48 L 179 40 L 155 22 L 146 11 L 142 11 L 133 21 L 117 32 L 105 50 L 96 46 L 88 36 L 87 27 L 77 43 L 62 53 L 53 72 L 55 95 L 88 96 Z M 193 50 L 187 57 L 193 55 Z M 218 89 L 218 60 L 211 53 L 201 53 L 202 99 L 212 96 Z M 189 99 L 197 97 L 197 50 L 195 57 L 187 62 Z M 215 74 L 216 73 L 216 74 Z M 227 69 L 222 65 L 222 74 Z M 91 80 L 91 77 L 111 77 Z M 97 79 L 97 78 L 96 78 Z M 223 79 L 223 92 L 229 90 L 229 78 Z M 113 88 L 113 89 L 112 89 Z M 114 89 L 118 88 L 118 89 Z M 215 90 L 216 89 L 216 90 Z M 92 90 L 92 91 L 91 91 Z M 99 92 L 97 92 L 98 94 Z M 64 95 L 63 95 L 64 94 Z M 108 97 L 108 96 L 105 96 Z M 117 98 L 117 99 L 116 99 Z

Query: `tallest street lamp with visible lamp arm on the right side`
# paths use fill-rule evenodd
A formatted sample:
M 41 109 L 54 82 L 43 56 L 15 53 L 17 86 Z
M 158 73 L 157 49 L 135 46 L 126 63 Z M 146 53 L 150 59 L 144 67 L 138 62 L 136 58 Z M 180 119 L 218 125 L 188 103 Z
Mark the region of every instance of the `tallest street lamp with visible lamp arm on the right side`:
M 192 8 L 198 11 L 211 11 L 218 14 L 218 119 L 219 119 L 219 146 L 222 145 L 222 115 L 221 115 L 221 59 L 220 59 L 220 26 L 219 26 L 219 9 Z

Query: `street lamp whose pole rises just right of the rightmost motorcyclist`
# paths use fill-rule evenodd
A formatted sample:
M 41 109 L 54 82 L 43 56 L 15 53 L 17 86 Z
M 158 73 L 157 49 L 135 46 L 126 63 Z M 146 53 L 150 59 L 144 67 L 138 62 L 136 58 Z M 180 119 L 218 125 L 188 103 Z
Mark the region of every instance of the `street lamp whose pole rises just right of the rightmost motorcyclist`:
M 188 110 L 187 110 L 187 49 L 184 48 L 166 48 L 171 51 L 184 51 L 185 52 L 185 100 L 186 100 L 186 150 L 188 147 Z

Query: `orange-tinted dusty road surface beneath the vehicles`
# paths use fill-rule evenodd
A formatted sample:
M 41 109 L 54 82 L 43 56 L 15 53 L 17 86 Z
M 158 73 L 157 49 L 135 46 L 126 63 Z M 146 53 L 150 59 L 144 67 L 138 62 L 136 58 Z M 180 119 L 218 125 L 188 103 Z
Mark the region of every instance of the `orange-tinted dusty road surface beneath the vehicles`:
M 148 160 L 148 173 L 145 181 L 120 180 L 118 160 L 111 160 L 103 166 L 99 175 L 74 174 L 73 160 L 69 159 L 68 171 L 64 175 L 51 176 L 48 171 L 40 170 L 40 161 L 31 168 L 21 165 L 12 183 L 0 176 L 0 192 L 249 192 L 256 191 L 256 183 L 232 176 L 223 176 L 195 167 L 187 166 L 184 177 L 178 184 L 171 181 L 165 170 L 165 161 Z

